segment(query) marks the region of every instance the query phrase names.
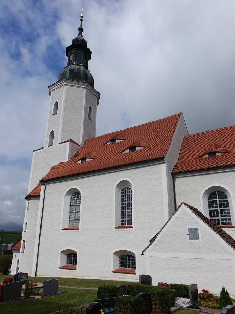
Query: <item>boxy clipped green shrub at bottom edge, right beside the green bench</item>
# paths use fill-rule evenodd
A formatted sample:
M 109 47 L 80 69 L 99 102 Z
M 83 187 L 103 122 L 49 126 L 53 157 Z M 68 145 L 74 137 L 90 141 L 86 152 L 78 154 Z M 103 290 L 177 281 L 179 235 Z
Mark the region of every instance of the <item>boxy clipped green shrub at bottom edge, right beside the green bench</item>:
M 141 298 L 122 296 L 115 299 L 116 314 L 145 314 Z

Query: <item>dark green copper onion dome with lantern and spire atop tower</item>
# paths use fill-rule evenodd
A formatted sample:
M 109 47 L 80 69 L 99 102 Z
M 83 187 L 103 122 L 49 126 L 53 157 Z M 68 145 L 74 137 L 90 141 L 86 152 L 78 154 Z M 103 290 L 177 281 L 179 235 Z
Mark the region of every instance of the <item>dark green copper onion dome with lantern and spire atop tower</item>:
M 87 48 L 87 41 L 83 38 L 81 25 L 78 28 L 78 35 L 72 40 L 72 45 L 66 48 L 68 65 L 60 72 L 58 82 L 62 79 L 88 83 L 94 87 L 94 78 L 88 70 L 88 61 L 91 60 L 91 50 Z

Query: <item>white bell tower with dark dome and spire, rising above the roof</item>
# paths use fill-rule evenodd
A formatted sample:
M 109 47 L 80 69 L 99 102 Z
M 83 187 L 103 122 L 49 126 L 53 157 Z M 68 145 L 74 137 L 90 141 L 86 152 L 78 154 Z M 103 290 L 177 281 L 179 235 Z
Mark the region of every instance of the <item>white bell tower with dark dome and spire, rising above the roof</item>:
M 66 48 L 67 66 L 58 81 L 49 86 L 44 147 L 34 151 L 29 192 L 53 165 L 69 160 L 87 138 L 96 135 L 100 93 L 94 89 L 94 78 L 88 69 L 91 50 L 82 36 L 82 18 L 81 14 L 77 37 Z

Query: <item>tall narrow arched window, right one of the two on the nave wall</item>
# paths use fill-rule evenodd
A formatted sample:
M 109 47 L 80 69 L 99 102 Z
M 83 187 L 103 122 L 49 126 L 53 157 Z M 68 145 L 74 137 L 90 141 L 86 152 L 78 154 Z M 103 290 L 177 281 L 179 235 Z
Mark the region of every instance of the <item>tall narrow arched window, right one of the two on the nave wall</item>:
M 121 190 L 121 225 L 132 225 L 132 190 L 124 187 Z

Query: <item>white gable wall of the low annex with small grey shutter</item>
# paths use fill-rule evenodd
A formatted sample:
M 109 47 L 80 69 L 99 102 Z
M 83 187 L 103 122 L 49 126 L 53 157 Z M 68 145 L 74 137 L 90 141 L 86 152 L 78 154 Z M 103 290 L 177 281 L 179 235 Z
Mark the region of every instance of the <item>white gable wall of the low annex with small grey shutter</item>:
M 198 228 L 201 241 L 188 241 L 187 228 Z M 235 251 L 185 205 L 144 252 L 152 283 L 196 283 L 198 290 L 235 294 Z

